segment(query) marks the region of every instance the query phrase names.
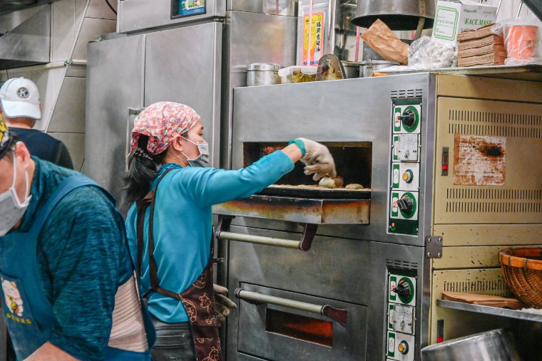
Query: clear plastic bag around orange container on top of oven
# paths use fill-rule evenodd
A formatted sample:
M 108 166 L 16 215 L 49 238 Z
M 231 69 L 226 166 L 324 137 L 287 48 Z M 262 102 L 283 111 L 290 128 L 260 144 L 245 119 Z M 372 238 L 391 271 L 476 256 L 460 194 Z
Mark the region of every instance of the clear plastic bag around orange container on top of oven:
M 506 19 L 496 23 L 491 31 L 503 36 L 506 65 L 542 64 L 542 29 L 538 19 Z

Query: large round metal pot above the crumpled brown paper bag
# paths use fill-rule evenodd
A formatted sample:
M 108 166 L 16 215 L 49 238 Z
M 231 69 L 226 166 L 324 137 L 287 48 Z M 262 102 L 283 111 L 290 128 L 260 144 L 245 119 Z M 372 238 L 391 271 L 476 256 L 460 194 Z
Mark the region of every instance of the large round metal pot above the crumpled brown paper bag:
M 414 30 L 419 18 L 424 18 L 424 28 L 432 28 L 434 17 L 434 0 L 358 0 L 352 23 L 369 28 L 380 19 L 392 30 Z

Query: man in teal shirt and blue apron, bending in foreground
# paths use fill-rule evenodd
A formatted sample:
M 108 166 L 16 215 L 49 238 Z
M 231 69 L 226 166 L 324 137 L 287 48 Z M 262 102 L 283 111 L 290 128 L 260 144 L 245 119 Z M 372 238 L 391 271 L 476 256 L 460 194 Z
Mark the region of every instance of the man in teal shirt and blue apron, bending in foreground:
M 31 157 L 1 120 L 0 219 L 0 303 L 18 360 L 150 360 L 154 330 L 111 196 Z

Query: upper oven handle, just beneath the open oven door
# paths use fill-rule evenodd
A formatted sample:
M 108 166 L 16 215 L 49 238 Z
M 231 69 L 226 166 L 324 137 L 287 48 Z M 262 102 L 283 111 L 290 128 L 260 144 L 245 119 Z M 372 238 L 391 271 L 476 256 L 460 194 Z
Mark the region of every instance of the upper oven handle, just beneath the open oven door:
M 228 239 L 230 241 L 247 242 L 251 244 L 264 244 L 265 246 L 285 247 L 300 249 L 301 251 L 309 251 L 312 246 L 312 241 L 315 239 L 317 224 L 305 224 L 301 241 L 292 239 L 280 239 L 265 236 L 254 236 L 251 234 L 239 234 L 228 231 L 219 230 L 217 232 L 218 239 Z

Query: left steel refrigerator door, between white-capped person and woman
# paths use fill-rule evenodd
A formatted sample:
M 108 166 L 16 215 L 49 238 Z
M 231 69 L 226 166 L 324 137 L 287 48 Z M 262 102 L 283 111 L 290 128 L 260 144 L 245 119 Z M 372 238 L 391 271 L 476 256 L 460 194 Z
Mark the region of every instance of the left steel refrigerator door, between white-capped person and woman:
M 86 78 L 85 173 L 119 206 L 126 171 L 126 120 L 143 106 L 145 36 L 89 43 Z M 130 54 L 130 56 L 126 56 Z

